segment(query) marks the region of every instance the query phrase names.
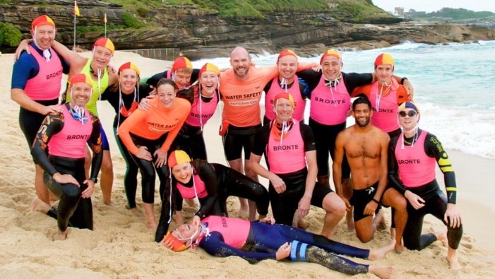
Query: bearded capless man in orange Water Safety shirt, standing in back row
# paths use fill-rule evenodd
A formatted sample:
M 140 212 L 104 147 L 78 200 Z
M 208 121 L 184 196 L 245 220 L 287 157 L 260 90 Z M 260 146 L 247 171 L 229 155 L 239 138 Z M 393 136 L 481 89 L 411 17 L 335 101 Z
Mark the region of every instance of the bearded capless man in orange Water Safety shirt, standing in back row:
M 261 127 L 260 100 L 266 83 L 278 76 L 278 65 L 255 67 L 244 47 L 235 47 L 230 53 L 231 69 L 220 73 L 220 95 L 224 104 L 220 136 L 225 158 L 232 169 L 258 182 L 258 175 L 247 167 L 256 131 Z M 297 71 L 311 69 L 317 64 L 300 62 Z M 242 151 L 244 150 L 244 162 Z M 243 164 L 244 163 L 244 164 Z M 247 210 L 241 199 L 240 213 Z M 249 206 L 249 220 L 256 219 L 256 206 Z

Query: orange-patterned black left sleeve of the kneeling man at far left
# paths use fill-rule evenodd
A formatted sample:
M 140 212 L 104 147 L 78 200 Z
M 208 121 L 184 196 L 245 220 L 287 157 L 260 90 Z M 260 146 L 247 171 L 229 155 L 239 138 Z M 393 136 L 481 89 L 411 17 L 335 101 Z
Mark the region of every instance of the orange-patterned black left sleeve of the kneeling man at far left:
M 47 145 L 50 138 L 64 128 L 64 116 L 61 113 L 49 114 L 44 118 L 40 130 L 36 133 L 35 141 L 32 143 L 31 155 L 42 169 L 53 176 L 57 170 L 52 166 L 47 156 Z M 98 127 L 100 129 L 100 127 Z

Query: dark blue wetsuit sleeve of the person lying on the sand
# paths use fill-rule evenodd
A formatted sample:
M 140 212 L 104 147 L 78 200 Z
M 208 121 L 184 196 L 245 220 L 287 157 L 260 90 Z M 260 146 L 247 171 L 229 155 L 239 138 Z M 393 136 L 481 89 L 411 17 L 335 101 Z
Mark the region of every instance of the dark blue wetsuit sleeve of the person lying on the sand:
M 224 242 L 220 232 L 211 232 L 208 237 L 201 239 L 199 246 L 205 249 L 210 255 L 220 257 L 240 256 L 242 259 L 249 261 L 249 263 L 256 263 L 266 259 L 277 259 L 275 253 L 251 252 L 232 247 Z

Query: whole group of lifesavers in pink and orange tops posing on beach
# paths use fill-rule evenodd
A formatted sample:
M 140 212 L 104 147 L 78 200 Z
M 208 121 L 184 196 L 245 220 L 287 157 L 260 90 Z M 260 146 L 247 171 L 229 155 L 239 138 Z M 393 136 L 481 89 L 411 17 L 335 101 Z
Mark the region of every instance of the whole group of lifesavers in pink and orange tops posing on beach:
M 146 223 L 156 242 L 175 251 L 199 245 L 217 256 L 309 261 L 388 278 L 392 267 L 335 254 L 375 260 L 402 251 L 402 239 L 407 249 L 418 250 L 441 240 L 448 244 L 451 268 L 460 268 L 455 251 L 463 229 L 453 168 L 438 138 L 419 129 L 413 88 L 407 78 L 393 75 L 389 54 L 376 58 L 374 73 L 344 73 L 335 49 L 324 52 L 319 64 L 299 61 L 285 49 L 273 66 L 254 66 L 249 52 L 235 47 L 225 71 L 211 63 L 193 69 L 179 57 L 172 69 L 142 81 L 131 61 L 109 66 L 115 49 L 108 38 L 97 40 L 87 59 L 56 42 L 55 32 L 48 16 L 32 21 L 32 40 L 18 47 L 11 98 L 20 105 L 20 128 L 36 166 L 32 206 L 56 218 L 56 239 L 67 237 L 68 226 L 93 229 L 90 197 L 100 170 L 103 201 L 112 204 L 113 166 L 97 114 L 97 101 L 107 100 L 116 112 L 114 136 L 126 162 L 127 208 L 138 211 L 139 171 Z M 68 85 L 61 97 L 63 74 Z M 208 162 L 203 138 L 220 101 L 219 134 L 229 167 Z M 350 115 L 355 124 L 346 128 Z M 447 196 L 436 182 L 435 165 L 444 174 Z M 268 187 L 258 175 L 268 179 Z M 57 208 L 51 194 L 59 198 Z M 239 197 L 251 222 L 228 218 L 228 196 Z M 181 213 L 183 199 L 198 207 L 190 225 Z M 273 218 L 267 216 L 269 205 Z M 320 235 L 304 231 L 311 205 L 325 210 Z M 363 250 L 330 240 L 346 216 L 347 227 L 369 242 L 385 227 L 382 206 L 392 208 L 392 244 Z M 447 232 L 422 235 L 428 213 Z M 173 214 L 178 227 L 169 232 Z

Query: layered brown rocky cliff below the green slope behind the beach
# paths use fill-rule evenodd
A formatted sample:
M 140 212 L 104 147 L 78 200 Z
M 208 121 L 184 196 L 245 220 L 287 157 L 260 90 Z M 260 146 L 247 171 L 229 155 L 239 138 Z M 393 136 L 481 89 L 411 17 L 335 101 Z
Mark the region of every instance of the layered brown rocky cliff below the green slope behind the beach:
M 73 44 L 73 1 L 11 1 L 0 4 L 0 20 L 12 23 L 30 37 L 30 22 L 40 14 L 52 17 L 58 30 L 57 40 Z M 78 26 L 101 31 L 78 34 L 77 44 L 90 48 L 103 36 L 103 14 L 108 24 L 124 25 L 122 15 L 132 13 L 117 4 L 79 0 L 81 16 Z M 190 59 L 218 57 L 228 54 L 234 45 L 243 44 L 252 52 L 277 52 L 284 47 L 298 49 L 301 54 L 323 52 L 326 47 L 371 49 L 388 47 L 405 41 L 442 44 L 471 40 L 494 40 L 495 31 L 477 25 L 449 23 L 351 24 L 318 11 L 278 12 L 263 20 L 227 20 L 215 11 L 200 11 L 193 6 L 164 6 L 143 19 L 146 28 L 109 30 L 107 36 L 117 49 L 180 48 Z M 153 19 L 153 20 L 150 20 Z M 398 20 L 397 20 L 398 21 Z M 153 23 L 152 23 L 153 22 Z M 390 23 L 384 18 L 383 23 Z

